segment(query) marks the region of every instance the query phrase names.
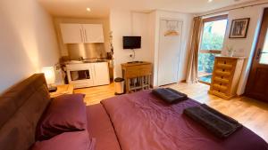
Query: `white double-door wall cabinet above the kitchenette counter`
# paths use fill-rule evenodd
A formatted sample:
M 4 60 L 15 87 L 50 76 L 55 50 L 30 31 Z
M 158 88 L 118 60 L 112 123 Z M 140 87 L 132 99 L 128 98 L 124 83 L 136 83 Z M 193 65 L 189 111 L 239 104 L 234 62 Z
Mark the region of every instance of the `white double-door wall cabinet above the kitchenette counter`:
M 101 24 L 61 24 L 63 43 L 105 43 Z

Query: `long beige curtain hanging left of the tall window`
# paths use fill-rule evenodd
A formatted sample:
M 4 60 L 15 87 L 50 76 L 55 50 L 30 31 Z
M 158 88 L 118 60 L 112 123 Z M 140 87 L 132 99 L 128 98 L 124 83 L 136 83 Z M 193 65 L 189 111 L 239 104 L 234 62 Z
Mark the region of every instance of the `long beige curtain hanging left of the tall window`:
M 195 17 L 193 20 L 193 30 L 190 41 L 190 50 L 188 57 L 188 67 L 186 82 L 187 83 L 197 83 L 198 82 L 198 49 L 200 43 L 200 33 L 202 28 L 201 17 Z

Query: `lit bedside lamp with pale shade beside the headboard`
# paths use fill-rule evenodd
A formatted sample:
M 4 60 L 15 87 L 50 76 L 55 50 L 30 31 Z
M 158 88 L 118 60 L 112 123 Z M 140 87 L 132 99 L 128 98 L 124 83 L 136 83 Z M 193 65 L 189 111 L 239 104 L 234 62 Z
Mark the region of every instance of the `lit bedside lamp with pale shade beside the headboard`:
M 52 86 L 52 84 L 55 81 L 54 67 L 43 67 L 42 73 L 45 74 L 48 91 L 49 92 L 57 91 L 57 87 Z

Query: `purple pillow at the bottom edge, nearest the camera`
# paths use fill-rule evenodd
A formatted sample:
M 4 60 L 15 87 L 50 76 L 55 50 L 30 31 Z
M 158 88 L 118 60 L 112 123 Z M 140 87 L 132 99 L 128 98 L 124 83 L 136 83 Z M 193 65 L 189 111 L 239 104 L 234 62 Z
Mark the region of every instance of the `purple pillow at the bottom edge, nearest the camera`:
M 96 140 L 88 130 L 64 132 L 48 140 L 38 141 L 31 150 L 94 150 Z

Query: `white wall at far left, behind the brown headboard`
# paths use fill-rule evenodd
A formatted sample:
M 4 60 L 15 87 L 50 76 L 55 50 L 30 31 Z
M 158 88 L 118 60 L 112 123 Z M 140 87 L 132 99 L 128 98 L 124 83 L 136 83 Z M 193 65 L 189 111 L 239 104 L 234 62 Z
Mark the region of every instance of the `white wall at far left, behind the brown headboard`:
M 0 93 L 58 61 L 53 21 L 36 0 L 0 2 Z

